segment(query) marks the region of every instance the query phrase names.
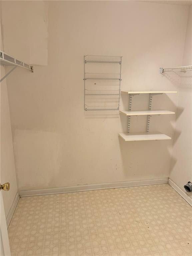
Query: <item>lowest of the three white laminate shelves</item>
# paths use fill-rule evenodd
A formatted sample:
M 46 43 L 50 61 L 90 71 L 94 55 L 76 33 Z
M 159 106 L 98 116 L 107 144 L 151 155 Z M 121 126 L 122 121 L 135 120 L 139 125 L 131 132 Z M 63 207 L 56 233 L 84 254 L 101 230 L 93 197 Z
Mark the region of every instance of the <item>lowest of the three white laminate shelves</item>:
M 119 133 L 124 141 L 141 141 L 141 140 L 171 140 L 171 137 L 160 133 Z

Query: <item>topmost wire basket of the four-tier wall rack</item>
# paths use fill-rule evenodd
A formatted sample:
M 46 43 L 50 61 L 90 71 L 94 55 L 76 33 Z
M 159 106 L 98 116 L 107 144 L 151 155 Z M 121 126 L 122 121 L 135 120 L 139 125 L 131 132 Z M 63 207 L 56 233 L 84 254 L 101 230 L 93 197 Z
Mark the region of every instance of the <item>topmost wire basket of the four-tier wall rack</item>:
M 85 63 L 87 62 L 103 62 L 103 63 L 119 63 L 121 64 L 122 56 L 99 56 L 99 55 L 86 55 Z

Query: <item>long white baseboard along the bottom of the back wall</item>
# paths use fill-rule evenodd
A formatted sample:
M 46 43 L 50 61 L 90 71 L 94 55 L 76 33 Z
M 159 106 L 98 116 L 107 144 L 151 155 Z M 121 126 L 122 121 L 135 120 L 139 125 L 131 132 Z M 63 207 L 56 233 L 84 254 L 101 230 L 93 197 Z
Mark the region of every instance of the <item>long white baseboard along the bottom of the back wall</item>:
M 101 183 L 101 184 L 92 184 L 92 185 L 77 185 L 74 187 L 21 190 L 19 191 L 19 196 L 20 197 L 41 196 L 41 195 L 51 195 L 51 194 L 60 194 L 60 193 L 69 193 L 69 192 L 80 192 L 80 191 L 87 191 L 87 190 L 166 184 L 168 183 L 168 179 L 169 178 L 152 179 L 152 180 L 120 181 L 120 182 Z

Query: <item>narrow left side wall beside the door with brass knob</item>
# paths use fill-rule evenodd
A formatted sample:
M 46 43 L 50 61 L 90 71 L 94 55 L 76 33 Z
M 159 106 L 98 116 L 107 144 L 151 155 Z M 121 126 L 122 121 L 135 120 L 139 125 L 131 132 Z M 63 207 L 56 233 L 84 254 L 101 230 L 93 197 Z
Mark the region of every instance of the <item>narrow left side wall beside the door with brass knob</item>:
M 0 31 L 0 48 L 3 50 L 2 33 Z M 0 66 L 1 78 L 5 75 L 5 68 Z M 7 94 L 7 82 L 4 79 L 0 84 L 0 182 L 1 184 L 5 182 L 10 183 L 10 190 L 8 192 L 2 191 L 5 216 L 7 219 L 7 224 L 12 217 L 12 211 L 14 209 L 14 204 L 17 202 L 18 198 L 18 188 L 17 179 L 15 172 L 15 160 L 13 153 L 13 141 L 11 132 L 11 120 L 9 112 L 9 101 Z M 11 208 L 13 205 L 13 208 Z

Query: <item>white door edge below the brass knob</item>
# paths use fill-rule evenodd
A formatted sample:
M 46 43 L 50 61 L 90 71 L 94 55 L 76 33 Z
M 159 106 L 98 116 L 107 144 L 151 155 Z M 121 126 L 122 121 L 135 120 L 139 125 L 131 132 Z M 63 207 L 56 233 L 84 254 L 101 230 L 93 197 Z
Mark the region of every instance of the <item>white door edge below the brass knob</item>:
M 2 186 L 0 187 L 2 188 Z M 7 190 L 5 188 L 5 190 Z M 4 210 L 4 205 L 3 205 L 3 195 L 2 193 L 9 193 L 6 191 L 3 191 L 3 189 L 0 190 L 0 252 L 1 256 L 10 256 L 10 246 L 9 246 L 9 238 L 8 238 L 8 232 L 7 232 L 7 223 L 6 223 L 6 218 L 5 218 L 5 210 Z

